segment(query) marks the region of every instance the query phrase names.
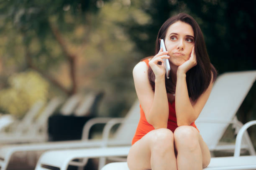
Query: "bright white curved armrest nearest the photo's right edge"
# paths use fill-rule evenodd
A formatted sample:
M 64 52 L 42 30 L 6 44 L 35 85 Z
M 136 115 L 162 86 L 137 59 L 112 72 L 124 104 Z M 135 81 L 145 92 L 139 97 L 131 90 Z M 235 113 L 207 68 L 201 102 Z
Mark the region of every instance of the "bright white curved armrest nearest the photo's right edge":
M 239 132 L 238 132 L 238 134 L 236 136 L 236 145 L 235 145 L 234 157 L 240 156 L 240 150 L 241 150 L 241 143 L 242 143 L 243 134 L 252 125 L 256 125 L 256 120 L 252 120 L 252 121 L 247 122 L 239 130 Z

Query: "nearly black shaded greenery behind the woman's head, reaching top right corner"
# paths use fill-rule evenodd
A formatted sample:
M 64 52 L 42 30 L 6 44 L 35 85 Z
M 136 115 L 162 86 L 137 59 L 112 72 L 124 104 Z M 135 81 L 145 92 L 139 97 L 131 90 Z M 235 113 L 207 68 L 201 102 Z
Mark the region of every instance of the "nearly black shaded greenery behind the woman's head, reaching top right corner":
M 153 0 L 142 9 L 151 16 L 147 25 L 133 21 L 124 25 L 138 50 L 146 56 L 154 55 L 159 28 L 166 19 L 177 13 L 188 13 L 200 25 L 207 50 L 219 73 L 255 70 L 256 1 L 242 0 Z M 140 35 L 148 35 L 143 39 Z

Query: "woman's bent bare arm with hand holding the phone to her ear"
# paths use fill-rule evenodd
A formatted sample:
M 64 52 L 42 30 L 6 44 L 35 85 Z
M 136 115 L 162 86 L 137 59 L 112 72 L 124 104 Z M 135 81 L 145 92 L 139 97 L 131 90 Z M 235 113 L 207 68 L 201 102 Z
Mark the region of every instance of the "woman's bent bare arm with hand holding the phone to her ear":
M 148 67 L 146 63 L 139 62 L 133 69 L 133 79 L 138 100 L 141 103 L 146 120 L 153 125 L 155 129 L 167 128 L 169 117 L 164 65 L 156 65 L 157 61 L 163 62 L 162 58 L 169 58 L 169 56 L 163 54 L 165 53 L 163 52 L 161 55 L 155 56 L 149 63 L 152 70 L 154 69 L 153 71 L 156 76 L 155 92 L 152 90 L 148 81 Z

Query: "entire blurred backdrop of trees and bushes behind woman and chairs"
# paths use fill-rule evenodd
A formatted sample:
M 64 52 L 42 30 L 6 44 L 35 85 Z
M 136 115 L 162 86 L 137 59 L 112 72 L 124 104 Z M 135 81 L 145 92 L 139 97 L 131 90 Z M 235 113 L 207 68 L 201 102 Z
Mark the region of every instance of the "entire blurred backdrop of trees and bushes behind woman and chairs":
M 37 100 L 103 91 L 98 116 L 124 116 L 136 99 L 134 65 L 154 55 L 159 28 L 180 12 L 200 25 L 219 74 L 256 70 L 255 8 L 255 0 L 0 0 L 0 112 L 20 118 Z M 238 119 L 256 119 L 255 83 Z

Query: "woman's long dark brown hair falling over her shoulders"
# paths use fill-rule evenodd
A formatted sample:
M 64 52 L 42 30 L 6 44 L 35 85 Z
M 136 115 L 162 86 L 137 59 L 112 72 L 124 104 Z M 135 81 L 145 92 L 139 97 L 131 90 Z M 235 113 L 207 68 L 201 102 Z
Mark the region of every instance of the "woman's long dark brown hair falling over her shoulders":
M 195 55 L 197 58 L 197 65 L 192 67 L 186 73 L 187 89 L 189 97 L 193 101 L 196 101 L 198 97 L 207 89 L 210 85 L 211 78 L 213 81 L 216 80 L 217 71 L 215 67 L 211 64 L 210 58 L 207 54 L 205 40 L 202 31 L 197 24 L 197 22 L 190 15 L 185 13 L 179 13 L 164 22 L 161 26 L 157 38 L 156 38 L 156 48 L 155 55 L 160 50 L 159 39 L 165 39 L 166 32 L 170 25 L 176 23 L 177 21 L 182 21 L 191 25 L 195 34 Z M 148 68 L 148 80 L 151 84 L 152 89 L 155 89 L 155 75 L 151 67 Z M 166 92 L 175 93 L 176 85 L 172 81 L 172 78 L 167 79 L 165 77 L 165 87 Z

